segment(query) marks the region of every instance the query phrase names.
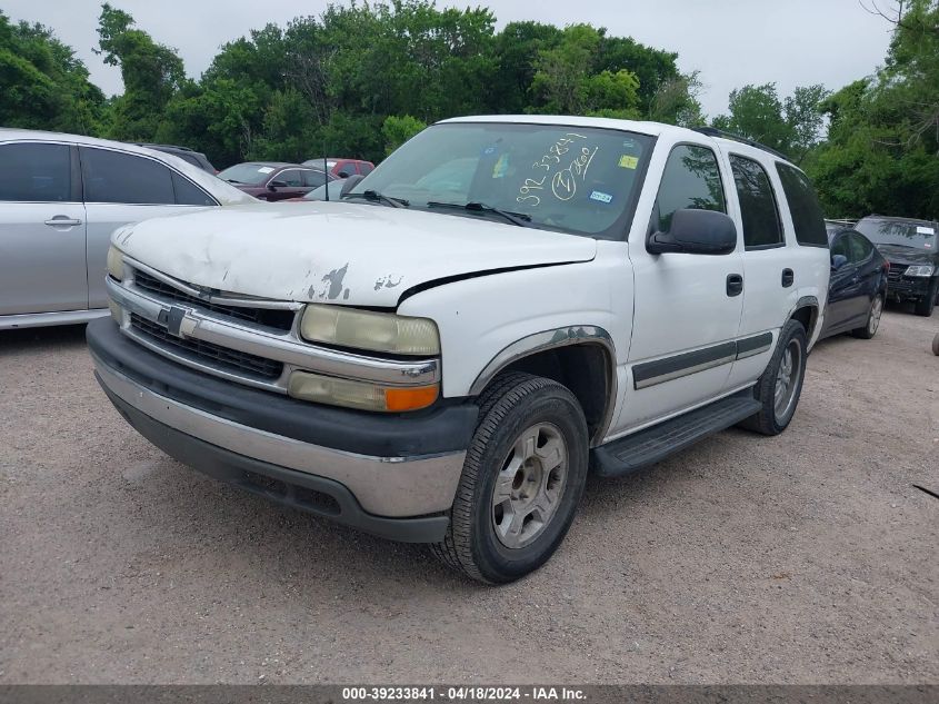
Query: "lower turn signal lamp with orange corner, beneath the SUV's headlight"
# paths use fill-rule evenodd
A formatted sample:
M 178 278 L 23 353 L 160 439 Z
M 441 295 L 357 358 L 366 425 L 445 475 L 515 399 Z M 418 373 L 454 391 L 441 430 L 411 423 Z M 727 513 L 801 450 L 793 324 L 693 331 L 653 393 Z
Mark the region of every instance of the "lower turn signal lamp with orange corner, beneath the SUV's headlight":
M 362 410 L 402 412 L 427 408 L 437 400 L 437 384 L 430 386 L 387 387 L 368 381 L 294 371 L 287 393 L 293 398 Z

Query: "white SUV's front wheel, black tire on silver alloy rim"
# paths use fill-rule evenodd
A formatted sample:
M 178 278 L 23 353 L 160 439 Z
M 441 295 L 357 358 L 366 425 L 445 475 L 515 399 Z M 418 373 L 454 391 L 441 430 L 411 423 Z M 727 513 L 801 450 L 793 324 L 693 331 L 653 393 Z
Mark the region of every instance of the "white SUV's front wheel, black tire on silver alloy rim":
M 560 462 L 549 467 L 543 455 L 552 449 Z M 583 410 L 565 386 L 528 374 L 497 377 L 480 397 L 450 525 L 433 554 L 488 584 L 543 565 L 577 513 L 588 449 Z

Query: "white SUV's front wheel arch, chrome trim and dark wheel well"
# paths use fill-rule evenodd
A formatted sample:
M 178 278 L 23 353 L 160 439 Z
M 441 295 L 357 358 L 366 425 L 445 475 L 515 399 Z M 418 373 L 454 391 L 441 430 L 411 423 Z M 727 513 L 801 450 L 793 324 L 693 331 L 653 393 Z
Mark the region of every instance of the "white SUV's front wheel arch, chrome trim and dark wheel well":
M 516 340 L 497 354 L 470 387 L 478 396 L 503 371 L 527 371 L 565 385 L 587 418 L 590 446 L 600 443 L 617 400 L 616 348 L 610 334 L 597 326 L 542 330 Z M 576 371 L 576 373 L 575 373 Z

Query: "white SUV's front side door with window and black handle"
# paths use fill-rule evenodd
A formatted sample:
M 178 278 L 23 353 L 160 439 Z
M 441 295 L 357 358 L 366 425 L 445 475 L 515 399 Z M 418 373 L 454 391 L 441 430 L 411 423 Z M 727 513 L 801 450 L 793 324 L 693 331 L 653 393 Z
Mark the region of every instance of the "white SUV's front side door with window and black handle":
M 676 145 L 665 165 L 649 231 L 667 232 L 680 209 L 727 212 L 732 184 L 711 147 Z M 633 230 L 635 231 L 635 230 Z M 626 403 L 618 430 L 638 429 L 725 389 L 743 309 L 742 245 L 729 255 L 649 254 L 630 237 L 635 313 Z

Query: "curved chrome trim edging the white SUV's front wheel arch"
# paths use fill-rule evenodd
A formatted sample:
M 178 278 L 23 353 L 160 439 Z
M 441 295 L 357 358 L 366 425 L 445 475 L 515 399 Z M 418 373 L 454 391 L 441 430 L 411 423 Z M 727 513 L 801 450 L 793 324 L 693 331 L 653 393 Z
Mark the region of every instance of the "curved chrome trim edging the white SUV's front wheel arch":
M 555 328 L 535 333 L 519 340 L 516 340 L 498 355 L 496 355 L 482 371 L 476 377 L 470 387 L 470 396 L 479 396 L 489 383 L 496 378 L 502 369 L 513 361 L 523 357 L 530 357 L 540 351 L 568 347 L 570 345 L 599 345 L 607 354 L 607 404 L 603 412 L 603 419 L 591 438 L 591 446 L 599 443 L 612 423 L 613 409 L 617 405 L 617 350 L 613 339 L 603 328 L 593 325 L 578 325 L 565 328 Z

